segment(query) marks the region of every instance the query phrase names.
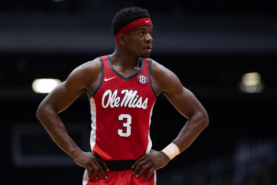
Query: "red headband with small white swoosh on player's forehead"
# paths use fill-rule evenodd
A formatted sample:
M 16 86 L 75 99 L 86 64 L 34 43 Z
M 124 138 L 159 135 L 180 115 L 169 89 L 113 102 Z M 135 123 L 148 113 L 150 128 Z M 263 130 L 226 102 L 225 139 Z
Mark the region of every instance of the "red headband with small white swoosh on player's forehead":
M 129 24 L 127 24 L 126 26 L 124 26 L 123 28 L 121 28 L 117 34 L 115 35 L 115 41 L 116 43 L 118 42 L 118 36 L 120 34 L 128 34 L 130 32 L 132 32 L 134 29 L 137 29 L 141 26 L 153 26 L 151 23 L 151 20 L 149 18 L 140 18 L 136 21 L 133 21 Z

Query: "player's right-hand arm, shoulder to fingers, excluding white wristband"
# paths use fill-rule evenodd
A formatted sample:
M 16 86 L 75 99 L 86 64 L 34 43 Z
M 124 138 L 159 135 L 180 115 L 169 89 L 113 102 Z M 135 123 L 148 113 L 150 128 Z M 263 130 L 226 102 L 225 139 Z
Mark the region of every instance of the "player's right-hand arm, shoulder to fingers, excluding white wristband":
M 201 103 L 188 89 L 184 88 L 178 77 L 164 66 L 153 61 L 151 81 L 156 94 L 164 94 L 173 106 L 188 119 L 173 143 L 177 145 L 180 153 L 188 148 L 196 137 L 209 124 L 208 114 Z M 133 174 L 139 177 L 143 171 L 150 168 L 145 180 L 154 170 L 164 167 L 169 157 L 162 151 L 153 151 L 136 160 Z

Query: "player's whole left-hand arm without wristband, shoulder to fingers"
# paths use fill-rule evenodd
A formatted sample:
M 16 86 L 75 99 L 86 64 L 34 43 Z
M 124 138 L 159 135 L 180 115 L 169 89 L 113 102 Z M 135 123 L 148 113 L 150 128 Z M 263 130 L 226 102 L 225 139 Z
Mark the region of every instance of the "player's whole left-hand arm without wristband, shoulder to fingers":
M 91 171 L 91 167 L 97 169 L 101 166 L 93 162 L 92 153 L 83 152 L 70 138 L 58 113 L 70 106 L 85 89 L 95 90 L 100 83 L 99 76 L 101 77 L 101 63 L 97 59 L 77 67 L 65 82 L 59 84 L 45 97 L 36 112 L 37 118 L 55 143 L 88 172 Z M 103 170 L 101 174 L 104 175 L 103 177 L 106 176 Z

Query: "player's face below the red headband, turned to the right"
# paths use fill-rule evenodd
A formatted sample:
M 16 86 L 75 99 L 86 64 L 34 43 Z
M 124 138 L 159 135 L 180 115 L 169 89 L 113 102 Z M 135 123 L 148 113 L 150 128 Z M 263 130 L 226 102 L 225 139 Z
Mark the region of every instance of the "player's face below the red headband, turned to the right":
M 152 26 L 142 26 L 126 34 L 126 46 L 130 56 L 147 58 L 151 52 L 153 41 Z

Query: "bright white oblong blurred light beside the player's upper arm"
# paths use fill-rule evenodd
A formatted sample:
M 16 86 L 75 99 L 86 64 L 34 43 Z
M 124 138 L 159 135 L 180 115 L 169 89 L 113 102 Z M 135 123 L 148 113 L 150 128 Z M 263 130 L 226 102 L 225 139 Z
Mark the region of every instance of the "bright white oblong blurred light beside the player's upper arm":
M 49 93 L 60 83 L 61 80 L 59 79 L 35 79 L 32 88 L 36 93 Z

